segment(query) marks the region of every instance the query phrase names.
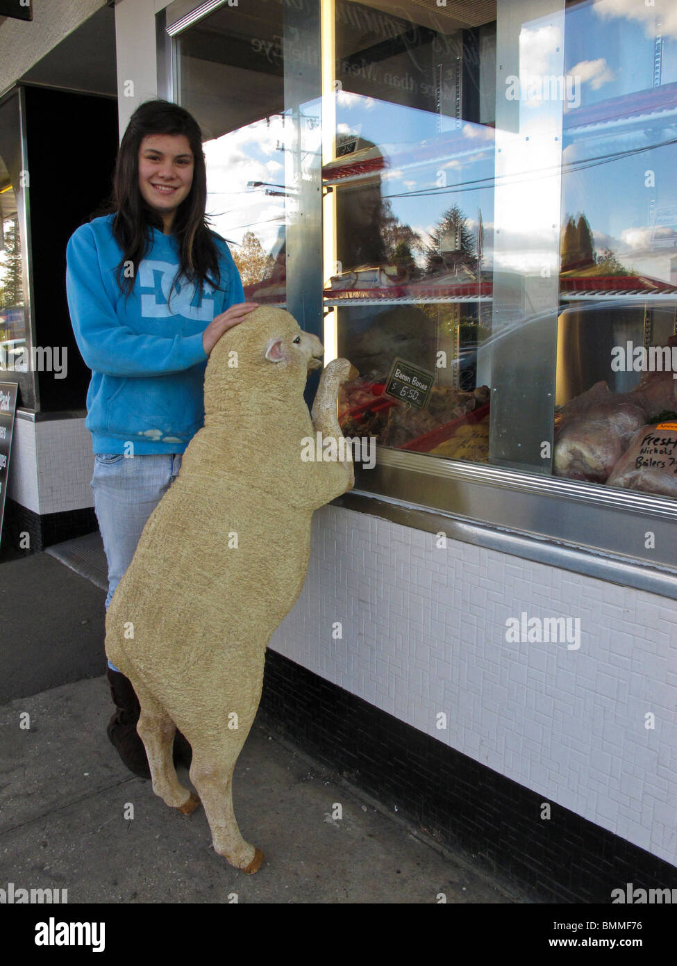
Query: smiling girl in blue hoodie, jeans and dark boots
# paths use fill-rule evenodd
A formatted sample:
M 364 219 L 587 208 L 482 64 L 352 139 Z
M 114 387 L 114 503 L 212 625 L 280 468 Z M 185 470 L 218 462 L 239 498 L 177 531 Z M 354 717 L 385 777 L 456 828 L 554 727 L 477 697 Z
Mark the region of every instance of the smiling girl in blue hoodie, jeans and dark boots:
M 85 426 L 108 562 L 106 609 L 202 427 L 208 356 L 256 308 L 244 302 L 240 274 L 207 224 L 206 204 L 197 122 L 177 104 L 147 101 L 120 146 L 110 213 L 78 228 L 67 247 L 71 323 L 92 370 Z M 131 771 L 150 777 L 136 732 L 138 700 L 110 662 L 108 680 L 117 708 L 108 736 Z M 185 739 L 182 751 L 189 753 Z

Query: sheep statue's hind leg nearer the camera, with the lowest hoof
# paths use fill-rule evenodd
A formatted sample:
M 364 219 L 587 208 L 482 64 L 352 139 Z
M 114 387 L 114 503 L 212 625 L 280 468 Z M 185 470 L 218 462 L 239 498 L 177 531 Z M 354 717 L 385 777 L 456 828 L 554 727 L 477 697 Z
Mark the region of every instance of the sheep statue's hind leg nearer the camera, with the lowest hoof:
M 190 781 L 200 793 L 212 830 L 214 852 L 231 866 L 252 873 L 261 867 L 264 853 L 242 838 L 233 810 L 233 770 L 243 743 L 239 742 L 234 754 L 224 754 L 222 744 L 209 748 L 196 740 L 192 746 Z

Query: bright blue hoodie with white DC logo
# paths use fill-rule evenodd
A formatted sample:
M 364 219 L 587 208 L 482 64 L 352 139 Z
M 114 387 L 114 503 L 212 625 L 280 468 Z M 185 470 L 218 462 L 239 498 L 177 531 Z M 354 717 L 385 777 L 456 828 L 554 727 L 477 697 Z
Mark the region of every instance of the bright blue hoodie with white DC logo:
M 202 333 L 214 316 L 244 301 L 240 274 L 228 245 L 214 235 L 221 291 L 206 284 L 198 302 L 184 279 L 171 288 L 179 246 L 154 228 L 126 303 L 116 279 L 123 252 L 112 219 L 81 225 L 66 249 L 71 324 L 92 370 L 85 426 L 95 453 L 129 452 L 130 442 L 134 454 L 183 453 L 205 419 Z

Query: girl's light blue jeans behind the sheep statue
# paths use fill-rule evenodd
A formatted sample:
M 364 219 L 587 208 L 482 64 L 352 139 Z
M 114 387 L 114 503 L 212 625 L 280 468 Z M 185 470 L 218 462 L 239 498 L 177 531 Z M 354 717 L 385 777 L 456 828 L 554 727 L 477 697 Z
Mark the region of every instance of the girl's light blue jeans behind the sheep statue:
M 146 521 L 179 474 L 181 458 L 181 453 L 131 457 L 95 454 L 90 486 L 108 562 L 106 611 L 131 563 Z M 110 661 L 108 667 L 118 669 Z

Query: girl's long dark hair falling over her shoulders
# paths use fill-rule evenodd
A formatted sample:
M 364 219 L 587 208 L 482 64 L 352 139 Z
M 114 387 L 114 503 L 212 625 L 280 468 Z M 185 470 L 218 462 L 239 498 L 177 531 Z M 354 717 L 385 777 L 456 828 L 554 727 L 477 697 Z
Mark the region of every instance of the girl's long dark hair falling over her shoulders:
M 113 176 L 113 197 L 107 213 L 114 213 L 113 235 L 123 250 L 117 278 L 129 296 L 139 263 L 152 244 L 152 228 L 162 231 L 162 219 L 145 203 L 139 190 L 139 149 L 147 134 L 183 134 L 193 154 L 193 181 L 190 191 L 174 215 L 172 234 L 179 241 L 179 270 L 198 290 L 210 283 L 218 289 L 221 273 L 218 249 L 205 216 L 207 170 L 202 150 L 202 132 L 197 121 L 183 107 L 169 100 L 147 100 L 129 119 L 120 145 Z M 133 273 L 126 270 L 129 263 Z

